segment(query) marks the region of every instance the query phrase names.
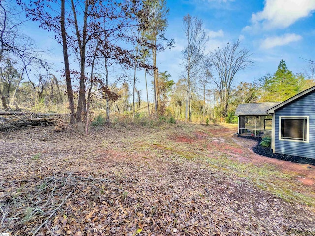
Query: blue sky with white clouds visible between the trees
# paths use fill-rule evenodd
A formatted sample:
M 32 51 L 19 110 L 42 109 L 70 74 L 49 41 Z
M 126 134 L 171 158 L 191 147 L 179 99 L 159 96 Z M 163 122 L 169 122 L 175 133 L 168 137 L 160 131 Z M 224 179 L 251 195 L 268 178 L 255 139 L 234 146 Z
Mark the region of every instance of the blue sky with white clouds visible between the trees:
M 175 47 L 158 53 L 157 65 L 160 72 L 168 71 L 175 82 L 183 74 L 183 17 L 187 14 L 203 21 L 209 36 L 206 53 L 237 40 L 241 48 L 250 51 L 254 65 L 236 74 L 235 85 L 275 73 L 281 59 L 293 73 L 307 73 L 304 59 L 315 60 L 315 0 L 168 0 L 167 6 L 166 37 L 174 39 Z M 38 47 L 51 50 L 47 61 L 56 68 L 63 66 L 62 47 L 52 34 L 38 29 L 34 22 L 24 30 Z M 144 73 L 138 72 L 137 77 L 136 86 L 144 96 Z

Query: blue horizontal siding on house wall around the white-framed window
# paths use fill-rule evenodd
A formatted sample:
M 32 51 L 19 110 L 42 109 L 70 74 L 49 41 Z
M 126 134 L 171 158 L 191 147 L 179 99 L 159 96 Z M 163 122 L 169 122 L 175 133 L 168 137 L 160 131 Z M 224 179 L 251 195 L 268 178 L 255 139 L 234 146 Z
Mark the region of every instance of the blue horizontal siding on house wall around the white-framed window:
M 280 116 L 309 116 L 309 142 L 279 140 Z M 275 111 L 276 153 L 315 158 L 315 92 L 300 97 Z

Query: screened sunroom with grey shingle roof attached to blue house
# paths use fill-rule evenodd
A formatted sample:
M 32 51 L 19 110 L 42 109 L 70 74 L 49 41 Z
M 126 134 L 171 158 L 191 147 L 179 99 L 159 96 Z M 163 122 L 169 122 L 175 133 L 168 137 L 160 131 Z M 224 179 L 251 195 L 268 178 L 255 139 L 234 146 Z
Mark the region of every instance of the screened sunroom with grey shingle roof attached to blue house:
M 280 102 L 247 103 L 236 108 L 238 116 L 238 133 L 243 136 L 271 137 L 272 116 L 267 110 L 277 106 Z

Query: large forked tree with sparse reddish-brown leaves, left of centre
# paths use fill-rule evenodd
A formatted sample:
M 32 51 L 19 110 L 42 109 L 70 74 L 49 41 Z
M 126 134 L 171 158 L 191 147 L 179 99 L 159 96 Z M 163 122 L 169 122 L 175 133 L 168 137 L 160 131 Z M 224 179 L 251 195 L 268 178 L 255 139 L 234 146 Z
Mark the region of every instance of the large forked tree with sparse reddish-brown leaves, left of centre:
M 39 21 L 41 28 L 47 31 L 53 31 L 56 35 L 56 39 L 62 44 L 67 91 L 72 115 L 71 120 L 74 122 L 75 118 L 77 128 L 83 131 L 82 115 L 84 115 L 86 111 L 85 83 L 89 78 L 86 71 L 88 67 L 92 65 L 91 63 L 87 63 L 87 60 L 93 58 L 95 51 L 99 50 L 95 65 L 99 63 L 99 58 L 103 57 L 104 54 L 101 52 L 104 47 L 96 49 L 97 41 L 108 42 L 108 34 L 116 32 L 116 36 L 119 35 L 120 38 L 126 41 L 129 40 L 128 42 L 134 41 L 131 36 L 131 28 L 137 23 L 135 19 L 142 16 L 141 1 L 50 0 L 25 3 L 22 0 L 17 0 L 17 2 L 23 6 L 28 17 L 32 18 L 32 20 Z M 52 8 L 56 9 L 55 6 L 59 4 L 60 12 L 58 10 L 51 11 Z M 68 11 L 66 11 L 67 9 Z M 105 48 L 105 50 L 110 50 L 110 57 L 117 53 L 117 55 L 114 55 L 115 59 L 121 57 L 121 60 L 124 60 L 124 56 L 128 57 L 130 55 L 128 53 L 130 50 L 121 50 L 121 47 L 118 46 L 119 44 L 116 43 L 117 42 L 113 41 L 108 44 L 110 48 Z M 72 51 L 71 55 L 78 61 L 79 71 L 70 70 L 69 51 Z M 106 55 L 109 53 L 105 52 Z M 111 58 L 107 57 L 105 63 L 109 65 L 110 59 Z M 79 82 L 76 112 L 74 112 L 75 106 L 72 102 L 73 91 L 70 71 Z M 108 77 L 106 77 L 106 79 L 108 79 Z M 108 83 L 106 83 L 105 87 L 106 86 L 108 86 Z M 108 88 L 104 89 L 105 92 L 110 92 Z

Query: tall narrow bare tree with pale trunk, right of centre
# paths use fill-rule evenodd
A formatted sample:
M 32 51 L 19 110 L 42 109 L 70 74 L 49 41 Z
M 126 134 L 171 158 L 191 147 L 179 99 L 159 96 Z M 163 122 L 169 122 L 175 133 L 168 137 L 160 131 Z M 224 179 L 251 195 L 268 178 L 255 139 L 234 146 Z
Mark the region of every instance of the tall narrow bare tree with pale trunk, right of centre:
M 191 84 L 204 72 L 205 45 L 208 37 L 202 29 L 202 20 L 197 17 L 191 17 L 189 14 L 184 16 L 184 31 L 187 39 L 187 45 L 182 52 L 183 67 L 185 69 L 185 78 L 187 81 L 187 99 L 185 118 L 191 118 L 190 93 Z M 189 115 L 188 115 L 189 111 Z

